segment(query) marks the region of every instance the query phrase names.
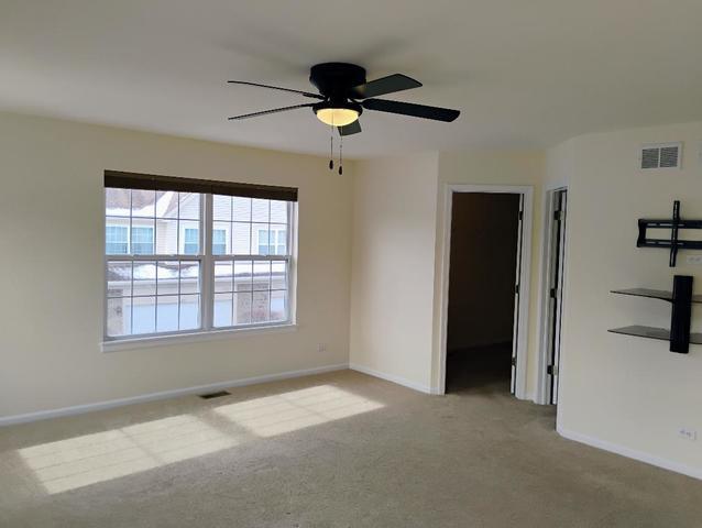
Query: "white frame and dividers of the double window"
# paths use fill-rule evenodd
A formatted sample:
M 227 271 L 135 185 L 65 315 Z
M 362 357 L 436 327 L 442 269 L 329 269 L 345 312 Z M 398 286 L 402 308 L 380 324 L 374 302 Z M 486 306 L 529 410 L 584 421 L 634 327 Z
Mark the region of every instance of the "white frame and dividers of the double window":
M 102 204 L 102 254 L 103 254 L 103 310 L 102 310 L 102 342 L 101 349 L 103 352 L 112 352 L 118 350 L 130 350 L 134 348 L 143 348 L 143 346 L 160 346 L 162 344 L 168 343 L 179 343 L 179 342 L 191 342 L 199 340 L 210 340 L 210 339 L 219 339 L 223 337 L 231 337 L 235 333 L 249 334 L 251 332 L 259 331 L 281 331 L 288 329 L 296 329 L 296 285 L 297 285 L 297 244 L 296 244 L 296 228 L 297 228 L 297 202 L 288 201 L 287 202 L 287 224 L 286 224 L 286 238 L 287 238 L 287 255 L 234 255 L 234 254 L 222 254 L 222 255 L 213 255 L 212 254 L 212 231 L 213 231 L 213 219 L 212 219 L 212 197 L 211 194 L 201 194 L 200 195 L 200 220 L 199 220 L 199 235 L 200 235 L 200 253 L 197 255 L 186 255 L 186 254 L 132 254 L 131 246 L 129 248 L 129 254 L 106 254 L 106 226 L 107 226 L 107 217 L 105 215 L 106 210 L 106 193 L 102 194 L 103 204 Z M 131 216 L 129 217 L 129 226 L 131 227 L 132 220 Z M 251 229 L 253 230 L 253 224 L 251 223 Z M 178 230 L 179 231 L 179 230 Z M 131 229 L 129 230 L 130 238 L 128 239 L 131 242 Z M 179 237 L 178 232 L 178 239 Z M 178 251 L 179 240 L 177 242 Z M 156 230 L 154 229 L 154 250 L 156 250 L 157 241 L 156 241 Z M 251 246 L 251 244 L 250 244 Z M 257 244 L 256 244 L 257 249 Z M 167 332 L 152 332 L 152 333 L 140 333 L 140 334 L 128 334 L 128 336 L 108 336 L 107 333 L 107 315 L 108 315 L 108 280 L 107 280 L 107 270 L 108 263 L 112 261 L 118 262 L 154 262 L 154 261 L 171 261 L 171 262 L 199 262 L 200 266 L 200 284 L 199 284 L 199 295 L 200 295 L 200 327 L 198 329 L 188 329 L 188 330 L 175 330 Z M 215 306 L 215 263 L 217 261 L 224 262 L 234 262 L 234 261 L 284 261 L 287 263 L 287 318 L 284 320 L 276 321 L 263 321 L 263 322 L 252 322 L 246 324 L 232 324 L 230 327 L 215 327 L 213 326 L 213 306 Z M 132 279 L 133 280 L 133 279 Z M 156 321 L 157 323 L 157 321 Z

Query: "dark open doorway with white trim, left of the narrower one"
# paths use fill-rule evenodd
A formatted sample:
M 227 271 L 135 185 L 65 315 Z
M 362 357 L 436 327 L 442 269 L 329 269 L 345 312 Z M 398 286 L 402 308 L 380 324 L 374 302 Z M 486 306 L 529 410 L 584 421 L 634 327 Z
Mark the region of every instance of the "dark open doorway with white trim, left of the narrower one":
M 523 393 L 530 188 L 461 187 L 447 196 L 443 388 Z

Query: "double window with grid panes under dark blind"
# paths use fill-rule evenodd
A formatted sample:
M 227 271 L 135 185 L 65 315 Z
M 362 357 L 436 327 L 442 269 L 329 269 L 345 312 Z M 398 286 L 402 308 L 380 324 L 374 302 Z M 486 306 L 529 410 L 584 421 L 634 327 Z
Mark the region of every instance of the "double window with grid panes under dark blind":
M 106 340 L 292 321 L 293 199 L 110 186 L 108 173 Z

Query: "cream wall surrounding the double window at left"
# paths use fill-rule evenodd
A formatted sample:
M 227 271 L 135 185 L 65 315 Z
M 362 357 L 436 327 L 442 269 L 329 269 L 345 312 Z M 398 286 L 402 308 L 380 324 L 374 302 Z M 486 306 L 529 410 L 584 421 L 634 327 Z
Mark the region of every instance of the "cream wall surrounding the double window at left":
M 0 418 L 347 363 L 352 163 L 10 113 L 0 138 Z M 299 329 L 101 353 L 106 168 L 299 187 Z

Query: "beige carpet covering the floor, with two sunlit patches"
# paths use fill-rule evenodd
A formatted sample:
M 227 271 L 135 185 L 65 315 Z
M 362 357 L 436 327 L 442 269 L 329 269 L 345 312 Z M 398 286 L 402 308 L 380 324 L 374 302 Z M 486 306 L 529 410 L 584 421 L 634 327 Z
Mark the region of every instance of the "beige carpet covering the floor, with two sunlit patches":
M 0 429 L 2 527 L 701 527 L 702 483 L 504 387 L 353 372 Z

